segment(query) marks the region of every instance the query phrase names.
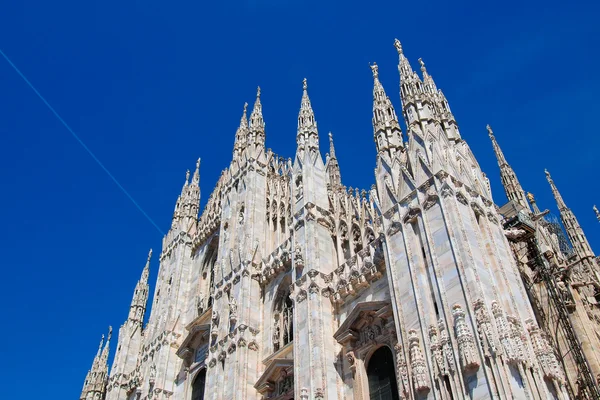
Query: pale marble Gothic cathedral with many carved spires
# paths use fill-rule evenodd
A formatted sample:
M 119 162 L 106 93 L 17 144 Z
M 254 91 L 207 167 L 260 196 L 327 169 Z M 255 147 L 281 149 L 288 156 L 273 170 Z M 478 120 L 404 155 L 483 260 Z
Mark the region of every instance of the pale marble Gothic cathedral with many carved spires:
M 539 209 L 488 126 L 495 204 L 395 48 L 406 132 L 371 65 L 375 184 L 344 186 L 331 134 L 323 158 L 306 80 L 294 158 L 266 149 L 259 89 L 201 213 L 200 160 L 187 173 L 149 316 L 152 251 L 81 400 L 600 399 L 600 268 L 575 215 L 549 172 L 564 230 Z

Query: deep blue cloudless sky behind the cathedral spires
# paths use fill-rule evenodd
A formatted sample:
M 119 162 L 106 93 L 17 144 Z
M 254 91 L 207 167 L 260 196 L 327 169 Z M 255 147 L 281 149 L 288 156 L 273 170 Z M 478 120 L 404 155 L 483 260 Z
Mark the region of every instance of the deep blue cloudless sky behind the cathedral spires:
M 368 63 L 399 109 L 398 37 L 444 90 L 495 201 L 487 123 L 525 189 L 556 212 L 552 172 L 600 251 L 599 4 L 368 3 L 5 2 L 0 48 L 166 231 L 198 157 L 204 205 L 257 85 L 267 146 L 292 157 L 308 78 L 323 155 L 332 131 L 343 182 L 368 188 Z M 0 87 L 3 395 L 76 398 L 161 235 L 2 59 Z M 157 268 L 155 257 L 152 281 Z

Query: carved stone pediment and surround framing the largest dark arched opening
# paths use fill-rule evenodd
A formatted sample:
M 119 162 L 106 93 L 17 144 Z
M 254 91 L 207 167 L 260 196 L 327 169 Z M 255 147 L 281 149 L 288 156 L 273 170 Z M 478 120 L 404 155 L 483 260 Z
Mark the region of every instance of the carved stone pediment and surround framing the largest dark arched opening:
M 385 301 L 358 303 L 336 331 L 334 338 L 343 346 L 343 369 L 352 372 L 354 399 L 369 399 L 368 373 L 373 370 L 370 361 L 373 359 L 377 362 L 378 357 L 374 357 L 374 354 L 381 353 L 379 350 L 382 347 L 394 354 L 397 342 L 390 304 Z M 394 370 L 391 384 L 394 393 L 397 393 L 398 371 L 396 368 Z

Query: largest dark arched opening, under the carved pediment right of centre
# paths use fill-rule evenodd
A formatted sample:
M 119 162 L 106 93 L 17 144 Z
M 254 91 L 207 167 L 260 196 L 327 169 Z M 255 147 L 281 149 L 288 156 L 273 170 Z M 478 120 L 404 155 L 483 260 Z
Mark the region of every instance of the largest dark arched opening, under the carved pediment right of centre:
M 373 353 L 367 366 L 371 400 L 399 400 L 395 369 L 394 355 L 389 347 L 380 347 Z

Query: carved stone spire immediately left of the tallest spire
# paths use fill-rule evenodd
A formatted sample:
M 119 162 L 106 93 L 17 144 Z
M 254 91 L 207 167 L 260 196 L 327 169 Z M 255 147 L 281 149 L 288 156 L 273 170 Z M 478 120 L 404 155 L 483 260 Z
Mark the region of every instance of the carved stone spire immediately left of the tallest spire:
M 402 130 L 390 98 L 379 81 L 379 67 L 371 65 L 373 72 L 373 135 L 377 152 L 395 152 L 403 146 Z

